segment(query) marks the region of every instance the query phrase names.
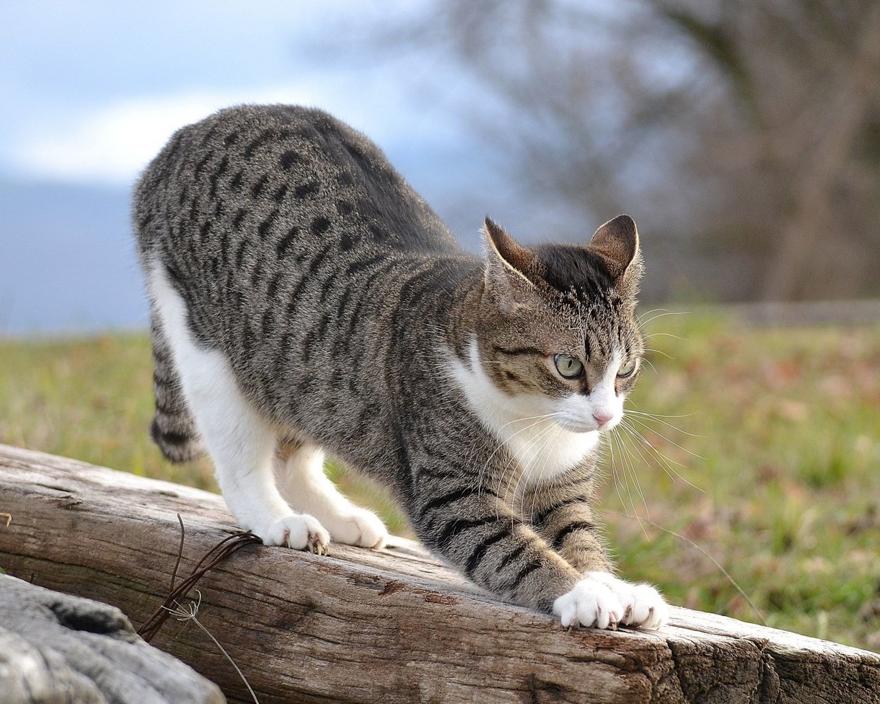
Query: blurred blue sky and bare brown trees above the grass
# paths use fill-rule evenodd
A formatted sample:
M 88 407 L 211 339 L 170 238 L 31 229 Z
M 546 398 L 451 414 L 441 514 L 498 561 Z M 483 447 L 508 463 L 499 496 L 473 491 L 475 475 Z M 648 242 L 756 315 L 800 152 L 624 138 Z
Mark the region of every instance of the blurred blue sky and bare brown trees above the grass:
M 633 215 L 646 299 L 880 295 L 875 1 L 0 8 L 0 331 L 142 326 L 136 174 L 241 102 L 376 140 L 466 246 Z M 39 285 L 35 285 L 39 282 Z

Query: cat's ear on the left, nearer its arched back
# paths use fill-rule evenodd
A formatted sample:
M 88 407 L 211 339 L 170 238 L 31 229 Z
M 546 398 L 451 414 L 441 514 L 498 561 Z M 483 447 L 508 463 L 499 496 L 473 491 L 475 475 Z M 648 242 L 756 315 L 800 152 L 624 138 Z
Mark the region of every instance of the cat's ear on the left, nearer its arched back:
M 510 314 L 532 307 L 538 292 L 534 282 L 540 276 L 538 258 L 490 217 L 483 231 L 488 245 L 486 285 L 499 309 Z

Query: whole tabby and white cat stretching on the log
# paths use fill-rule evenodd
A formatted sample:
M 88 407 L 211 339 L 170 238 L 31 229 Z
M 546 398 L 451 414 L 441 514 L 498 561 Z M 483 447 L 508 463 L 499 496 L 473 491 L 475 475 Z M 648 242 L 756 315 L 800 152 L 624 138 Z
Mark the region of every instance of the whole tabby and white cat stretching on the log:
M 563 626 L 657 628 L 613 576 L 590 501 L 598 441 L 644 352 L 642 256 L 618 216 L 586 245 L 462 250 L 367 137 L 300 106 L 181 128 L 136 186 L 166 458 L 207 450 L 265 544 L 378 548 L 325 453 L 400 502 L 415 534 L 497 597 Z

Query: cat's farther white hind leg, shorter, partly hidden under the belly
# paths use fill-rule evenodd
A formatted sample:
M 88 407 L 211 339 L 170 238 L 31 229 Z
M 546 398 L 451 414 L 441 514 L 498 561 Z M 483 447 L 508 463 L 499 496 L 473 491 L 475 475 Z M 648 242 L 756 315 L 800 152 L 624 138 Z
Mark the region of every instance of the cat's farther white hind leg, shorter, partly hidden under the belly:
M 278 457 L 278 488 L 294 509 L 317 517 L 334 542 L 361 547 L 385 546 L 388 539 L 385 524 L 376 514 L 349 502 L 327 479 L 324 452 L 320 448 L 294 444 L 284 449 L 286 451 Z

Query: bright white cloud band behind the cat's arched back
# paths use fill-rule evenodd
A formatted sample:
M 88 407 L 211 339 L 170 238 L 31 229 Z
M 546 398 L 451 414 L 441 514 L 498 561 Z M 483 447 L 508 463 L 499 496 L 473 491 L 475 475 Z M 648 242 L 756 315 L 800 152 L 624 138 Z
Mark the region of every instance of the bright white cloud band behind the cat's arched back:
M 17 143 L 6 145 L 4 170 L 35 180 L 130 185 L 176 129 L 241 103 L 319 106 L 386 147 L 401 138 L 442 141 L 448 136 L 449 126 L 441 128 L 431 120 L 423 106 L 407 99 L 400 84 L 387 77 L 381 83 L 370 78 L 312 75 L 307 83 L 296 85 L 139 96 L 96 106 L 57 126 L 43 123 L 22 129 Z

